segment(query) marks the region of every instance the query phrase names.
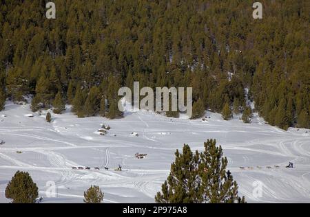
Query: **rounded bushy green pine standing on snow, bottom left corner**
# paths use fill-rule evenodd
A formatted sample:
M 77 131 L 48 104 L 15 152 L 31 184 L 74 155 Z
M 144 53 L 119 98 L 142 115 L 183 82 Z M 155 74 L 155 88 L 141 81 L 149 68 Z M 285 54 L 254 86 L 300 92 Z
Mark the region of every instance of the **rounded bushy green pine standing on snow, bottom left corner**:
M 28 172 L 17 171 L 6 187 L 6 198 L 12 203 L 35 203 L 38 195 L 38 187 Z

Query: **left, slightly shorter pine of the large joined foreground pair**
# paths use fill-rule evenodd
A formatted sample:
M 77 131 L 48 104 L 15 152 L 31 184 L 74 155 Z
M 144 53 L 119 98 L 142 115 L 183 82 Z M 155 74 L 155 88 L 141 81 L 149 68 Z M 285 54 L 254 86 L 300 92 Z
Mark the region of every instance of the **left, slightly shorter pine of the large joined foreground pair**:
M 200 180 L 198 177 L 198 152 L 193 153 L 188 145 L 183 146 L 183 153 L 176 150 L 176 160 L 171 165 L 167 181 L 162 185 L 162 192 L 155 196 L 156 203 L 199 203 Z

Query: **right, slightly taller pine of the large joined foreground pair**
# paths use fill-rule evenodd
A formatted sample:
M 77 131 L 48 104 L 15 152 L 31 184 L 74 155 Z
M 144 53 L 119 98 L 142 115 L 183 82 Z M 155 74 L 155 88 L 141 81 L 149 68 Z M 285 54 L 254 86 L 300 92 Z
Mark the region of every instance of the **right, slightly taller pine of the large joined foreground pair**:
M 199 173 L 201 177 L 200 194 L 203 203 L 245 203 L 238 196 L 238 185 L 229 170 L 223 149 L 216 146 L 216 140 L 205 142 L 205 151 L 200 154 Z

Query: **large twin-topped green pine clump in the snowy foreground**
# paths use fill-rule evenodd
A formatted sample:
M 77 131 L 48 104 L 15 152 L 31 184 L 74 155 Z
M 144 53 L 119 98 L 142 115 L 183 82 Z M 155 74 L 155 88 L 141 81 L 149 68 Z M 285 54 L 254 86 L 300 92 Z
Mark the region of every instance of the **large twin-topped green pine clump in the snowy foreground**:
M 216 140 L 205 142 L 205 151 L 195 153 L 184 145 L 176 151 L 167 181 L 155 196 L 156 203 L 245 203 L 229 170 L 227 158 Z

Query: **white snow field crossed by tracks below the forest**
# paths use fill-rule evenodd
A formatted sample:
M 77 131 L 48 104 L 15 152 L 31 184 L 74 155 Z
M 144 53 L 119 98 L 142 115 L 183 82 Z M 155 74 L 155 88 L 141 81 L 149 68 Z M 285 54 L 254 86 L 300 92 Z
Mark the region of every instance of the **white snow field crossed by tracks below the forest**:
M 223 146 L 229 170 L 247 202 L 310 203 L 307 129 L 281 130 L 264 124 L 257 115 L 251 124 L 243 124 L 238 117 L 226 122 L 209 112 L 206 115 L 211 118 L 205 121 L 146 111 L 108 120 L 79 119 L 70 109 L 63 115 L 52 113 L 49 124 L 46 112 L 39 115 L 30 111 L 29 104 L 11 102 L 0 112 L 0 141 L 5 141 L 0 145 L 0 203 L 9 202 L 4 192 L 17 170 L 30 173 L 43 203 L 83 203 L 83 192 L 90 185 L 101 187 L 104 203 L 154 203 L 176 149 L 189 144 L 193 150 L 203 150 L 209 138 Z M 111 127 L 107 135 L 98 132 L 103 124 Z M 136 152 L 147 157 L 137 159 Z M 285 168 L 289 161 L 295 168 Z M 114 170 L 118 164 L 122 172 Z M 55 197 L 47 194 L 52 192 L 51 181 L 56 183 Z

